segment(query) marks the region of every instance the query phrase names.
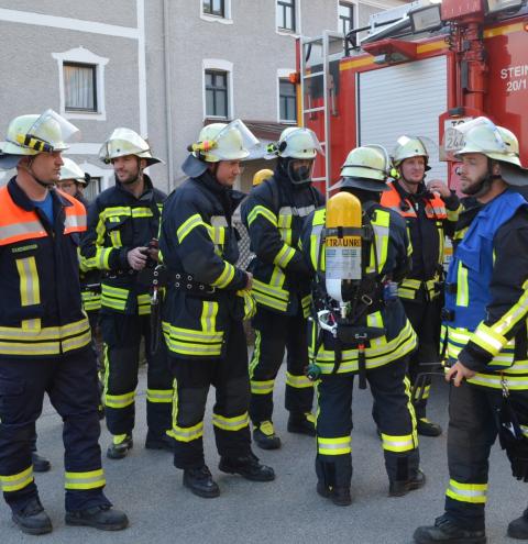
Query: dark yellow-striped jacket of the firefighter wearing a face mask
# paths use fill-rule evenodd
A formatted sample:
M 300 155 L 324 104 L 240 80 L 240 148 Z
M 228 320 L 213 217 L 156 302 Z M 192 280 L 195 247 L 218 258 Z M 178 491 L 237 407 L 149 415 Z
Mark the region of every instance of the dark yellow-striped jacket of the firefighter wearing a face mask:
M 256 254 L 249 268 L 253 274 L 252 295 L 266 310 L 295 315 L 300 303 L 308 317 L 309 269 L 298 241 L 306 217 L 323 201 L 317 189 L 294 186 L 277 168 L 242 203 L 242 221 Z

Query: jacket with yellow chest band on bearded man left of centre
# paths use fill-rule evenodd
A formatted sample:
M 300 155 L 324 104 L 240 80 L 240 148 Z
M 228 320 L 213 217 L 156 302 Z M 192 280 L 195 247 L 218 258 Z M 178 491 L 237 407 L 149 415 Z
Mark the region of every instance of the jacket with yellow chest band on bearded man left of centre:
M 88 229 L 80 244 L 81 266 L 102 270 L 102 313 L 150 313 L 148 287 L 138 281 L 127 255 L 157 238 L 165 193 L 143 176 L 145 192 L 140 198 L 116 181 L 88 208 Z

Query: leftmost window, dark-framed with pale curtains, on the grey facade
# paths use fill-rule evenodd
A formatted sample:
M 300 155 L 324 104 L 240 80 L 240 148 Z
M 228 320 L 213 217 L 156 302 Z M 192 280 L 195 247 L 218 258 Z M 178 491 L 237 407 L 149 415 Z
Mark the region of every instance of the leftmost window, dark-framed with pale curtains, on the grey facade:
M 97 111 L 96 66 L 64 63 L 64 107 L 66 111 Z

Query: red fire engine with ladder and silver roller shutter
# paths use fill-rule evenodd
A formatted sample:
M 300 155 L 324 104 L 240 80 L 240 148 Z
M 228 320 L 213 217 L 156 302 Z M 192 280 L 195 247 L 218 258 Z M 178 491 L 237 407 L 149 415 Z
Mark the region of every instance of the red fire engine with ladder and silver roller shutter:
M 528 165 L 526 0 L 420 0 L 346 36 L 297 40 L 298 115 L 321 141 L 314 181 L 329 193 L 353 147 L 402 134 L 436 143 L 428 178 L 458 187 L 457 131 L 486 115 L 513 131 Z

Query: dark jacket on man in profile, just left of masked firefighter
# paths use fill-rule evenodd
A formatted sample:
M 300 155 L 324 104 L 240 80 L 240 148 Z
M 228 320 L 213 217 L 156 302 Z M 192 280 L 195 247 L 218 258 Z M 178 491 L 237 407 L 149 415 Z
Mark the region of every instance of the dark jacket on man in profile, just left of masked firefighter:
M 231 217 L 242 198 L 207 170 L 166 200 L 160 249 L 169 280 L 162 323 L 175 357 L 222 357 L 232 321 L 254 311 L 244 290 L 248 275 L 235 266 L 239 236 Z

